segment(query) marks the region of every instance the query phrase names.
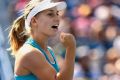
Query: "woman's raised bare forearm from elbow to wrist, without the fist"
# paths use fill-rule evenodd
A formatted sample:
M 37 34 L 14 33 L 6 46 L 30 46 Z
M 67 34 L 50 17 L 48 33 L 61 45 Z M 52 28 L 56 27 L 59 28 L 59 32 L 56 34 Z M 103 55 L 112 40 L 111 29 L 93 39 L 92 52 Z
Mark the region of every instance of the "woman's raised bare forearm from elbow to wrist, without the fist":
M 58 80 L 72 80 L 75 63 L 75 48 L 66 48 L 65 60 L 63 66 L 58 73 Z

